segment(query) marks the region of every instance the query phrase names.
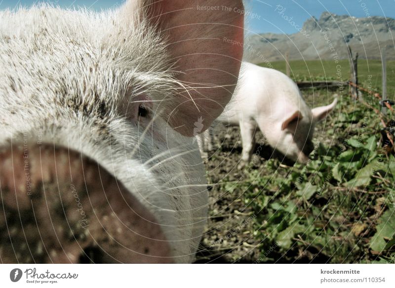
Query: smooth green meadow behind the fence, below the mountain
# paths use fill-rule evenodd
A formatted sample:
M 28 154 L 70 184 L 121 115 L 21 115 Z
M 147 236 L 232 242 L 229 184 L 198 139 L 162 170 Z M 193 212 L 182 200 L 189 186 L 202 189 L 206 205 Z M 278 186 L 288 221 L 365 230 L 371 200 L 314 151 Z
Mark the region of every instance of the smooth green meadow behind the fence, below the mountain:
M 273 68 L 284 72 L 286 66 L 284 61 L 272 62 Z M 335 63 L 333 60 L 311 60 L 311 61 L 290 61 L 291 78 L 297 81 L 315 81 L 315 80 L 341 80 L 350 79 L 350 65 L 348 60 L 340 60 Z M 340 65 L 340 66 L 338 66 Z M 267 67 L 267 64 L 261 66 Z M 341 79 L 338 79 L 336 73 L 340 69 Z M 368 88 L 368 77 L 371 75 L 371 87 L 381 93 L 382 89 L 382 67 L 381 61 L 378 60 L 358 60 L 358 78 L 359 83 Z M 387 93 L 388 98 L 395 98 L 395 61 L 387 62 Z

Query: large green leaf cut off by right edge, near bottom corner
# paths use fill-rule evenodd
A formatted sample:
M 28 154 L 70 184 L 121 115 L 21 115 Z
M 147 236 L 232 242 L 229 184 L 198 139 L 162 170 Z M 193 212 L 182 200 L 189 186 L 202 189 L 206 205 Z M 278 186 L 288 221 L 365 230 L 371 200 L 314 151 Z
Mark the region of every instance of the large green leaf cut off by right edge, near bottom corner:
M 384 212 L 378 221 L 380 224 L 376 226 L 377 232 L 370 239 L 369 246 L 374 251 L 382 252 L 395 244 L 395 208 Z

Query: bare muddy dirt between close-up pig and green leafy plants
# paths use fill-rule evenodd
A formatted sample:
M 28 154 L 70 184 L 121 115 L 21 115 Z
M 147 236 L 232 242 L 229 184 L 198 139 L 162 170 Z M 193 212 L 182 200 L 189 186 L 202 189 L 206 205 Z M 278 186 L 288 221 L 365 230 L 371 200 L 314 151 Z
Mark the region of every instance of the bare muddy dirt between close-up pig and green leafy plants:
M 237 169 L 241 157 L 239 129 L 230 127 L 219 135 L 221 148 L 208 152 L 204 162 L 209 182 L 209 219 L 200 243 L 196 263 L 253 263 L 259 257 L 259 241 L 251 234 L 253 213 L 243 203 L 242 189 L 232 192 L 215 183 L 242 181 L 246 170 Z M 258 132 L 256 140 L 262 139 Z M 258 144 L 257 144 L 258 146 Z M 266 155 L 254 155 L 254 164 L 248 169 L 260 169 L 273 150 L 265 145 Z M 257 152 L 257 151 L 256 151 Z M 275 152 L 276 154 L 276 152 Z M 277 157 L 281 157 L 276 154 Z

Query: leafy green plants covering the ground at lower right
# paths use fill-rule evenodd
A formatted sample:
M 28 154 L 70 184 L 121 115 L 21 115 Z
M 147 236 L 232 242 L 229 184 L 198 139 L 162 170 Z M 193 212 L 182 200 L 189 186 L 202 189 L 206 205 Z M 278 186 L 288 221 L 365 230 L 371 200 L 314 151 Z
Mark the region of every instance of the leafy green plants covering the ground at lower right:
M 338 105 L 317 126 L 307 165 L 270 159 L 233 185 L 257 216 L 259 262 L 394 262 L 395 157 L 372 107 L 348 96 Z

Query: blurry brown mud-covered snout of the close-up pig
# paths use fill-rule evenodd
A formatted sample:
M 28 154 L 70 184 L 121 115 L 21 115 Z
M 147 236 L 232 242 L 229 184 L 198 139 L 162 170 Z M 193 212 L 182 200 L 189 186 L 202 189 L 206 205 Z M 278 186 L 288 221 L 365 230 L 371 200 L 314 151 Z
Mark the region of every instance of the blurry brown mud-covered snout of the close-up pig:
M 0 151 L 3 263 L 168 263 L 155 217 L 98 163 L 53 145 Z

